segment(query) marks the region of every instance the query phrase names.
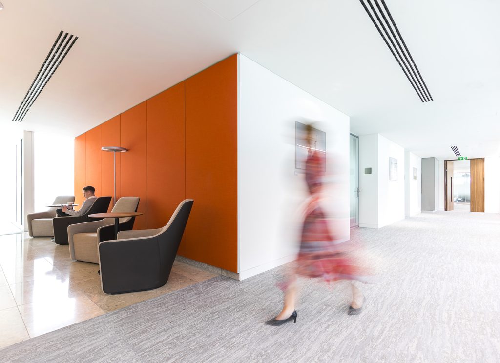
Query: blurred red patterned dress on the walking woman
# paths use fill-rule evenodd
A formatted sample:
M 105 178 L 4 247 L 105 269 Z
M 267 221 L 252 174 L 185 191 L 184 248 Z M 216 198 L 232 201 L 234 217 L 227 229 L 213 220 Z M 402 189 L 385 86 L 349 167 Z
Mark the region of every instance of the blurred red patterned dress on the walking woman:
M 328 283 L 359 280 L 359 267 L 343 251 L 343 243 L 335 244 L 334 234 L 328 228 L 327 216 L 319 205 L 324 162 L 320 152 L 309 152 L 305 164 L 305 181 L 311 197 L 304 213 L 296 273 L 306 277 L 321 277 Z

